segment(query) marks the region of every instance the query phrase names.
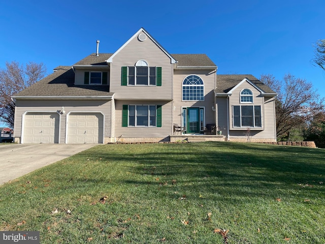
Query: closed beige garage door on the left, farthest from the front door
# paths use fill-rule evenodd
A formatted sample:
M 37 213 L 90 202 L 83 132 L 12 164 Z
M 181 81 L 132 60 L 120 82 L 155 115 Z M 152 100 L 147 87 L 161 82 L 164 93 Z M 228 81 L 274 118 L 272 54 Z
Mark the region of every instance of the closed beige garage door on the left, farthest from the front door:
M 58 143 L 58 113 L 27 113 L 24 117 L 23 143 Z

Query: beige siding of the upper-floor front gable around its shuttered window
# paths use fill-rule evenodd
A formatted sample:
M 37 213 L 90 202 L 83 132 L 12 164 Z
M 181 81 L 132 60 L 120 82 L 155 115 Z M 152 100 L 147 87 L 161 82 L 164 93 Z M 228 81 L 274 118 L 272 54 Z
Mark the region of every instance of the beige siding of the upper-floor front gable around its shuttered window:
M 140 59 L 145 60 L 149 67 L 161 67 L 161 86 L 121 85 L 121 67 L 135 66 Z M 173 67 L 171 59 L 149 37 L 143 42 L 139 41 L 138 37 L 131 40 L 113 57 L 110 72 L 110 92 L 115 93 L 116 100 L 125 98 L 130 100 L 172 100 Z

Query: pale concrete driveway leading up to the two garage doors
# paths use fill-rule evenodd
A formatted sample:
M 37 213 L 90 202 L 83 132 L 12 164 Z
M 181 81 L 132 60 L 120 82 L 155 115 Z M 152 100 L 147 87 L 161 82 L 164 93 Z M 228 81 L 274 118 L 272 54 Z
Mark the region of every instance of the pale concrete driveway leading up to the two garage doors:
M 98 144 L 0 145 L 0 185 Z

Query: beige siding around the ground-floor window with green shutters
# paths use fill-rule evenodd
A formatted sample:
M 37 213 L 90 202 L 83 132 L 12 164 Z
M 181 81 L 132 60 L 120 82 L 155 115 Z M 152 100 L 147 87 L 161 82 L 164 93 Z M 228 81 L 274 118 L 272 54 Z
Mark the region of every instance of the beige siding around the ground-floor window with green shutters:
M 162 105 L 161 127 L 122 127 L 122 106 Z M 166 101 L 115 101 L 115 137 L 123 138 L 167 137 L 172 134 L 172 103 Z

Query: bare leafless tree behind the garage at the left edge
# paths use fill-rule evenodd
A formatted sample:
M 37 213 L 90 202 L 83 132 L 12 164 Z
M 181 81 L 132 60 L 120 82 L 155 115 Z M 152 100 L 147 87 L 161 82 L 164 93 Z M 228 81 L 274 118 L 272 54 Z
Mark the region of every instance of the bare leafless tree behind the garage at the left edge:
M 0 121 L 14 127 L 15 103 L 11 96 L 34 84 L 46 75 L 43 63 L 29 62 L 25 66 L 18 62 L 6 62 L 6 68 L 0 68 Z

